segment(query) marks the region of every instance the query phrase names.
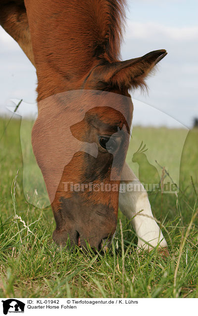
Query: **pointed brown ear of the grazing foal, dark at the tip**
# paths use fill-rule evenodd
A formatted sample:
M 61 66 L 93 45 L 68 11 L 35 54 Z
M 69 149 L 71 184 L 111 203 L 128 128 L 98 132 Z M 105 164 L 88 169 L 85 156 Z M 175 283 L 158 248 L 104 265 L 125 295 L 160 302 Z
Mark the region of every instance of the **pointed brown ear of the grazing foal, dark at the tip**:
M 119 88 L 146 86 L 145 79 L 153 67 L 167 55 L 165 50 L 158 50 L 147 55 L 123 62 L 108 64 L 102 74 L 102 81 Z

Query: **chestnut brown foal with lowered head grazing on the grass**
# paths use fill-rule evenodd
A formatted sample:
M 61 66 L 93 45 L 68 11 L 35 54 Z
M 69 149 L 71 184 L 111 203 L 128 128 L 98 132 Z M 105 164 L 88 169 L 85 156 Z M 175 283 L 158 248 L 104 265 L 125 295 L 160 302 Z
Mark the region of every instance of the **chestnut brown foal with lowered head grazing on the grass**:
M 124 0 L 0 3 L 2 27 L 37 71 L 39 115 L 32 145 L 56 221 L 53 238 L 60 244 L 69 237 L 100 249 L 116 230 L 120 180 L 138 181 L 125 163 L 133 114 L 128 90 L 146 86 L 167 53 L 119 60 L 124 5 Z M 65 190 L 65 183 L 77 184 L 76 190 Z M 90 190 L 90 183 L 103 183 L 104 189 Z M 141 188 L 120 195 L 121 210 L 133 218 L 139 248 L 166 247 Z M 134 218 L 141 210 L 148 217 Z

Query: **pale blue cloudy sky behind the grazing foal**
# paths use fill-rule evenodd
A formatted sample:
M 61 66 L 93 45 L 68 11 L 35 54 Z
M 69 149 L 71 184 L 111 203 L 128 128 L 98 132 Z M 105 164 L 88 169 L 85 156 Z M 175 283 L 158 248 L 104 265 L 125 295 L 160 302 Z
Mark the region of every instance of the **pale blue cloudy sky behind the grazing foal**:
M 37 78 L 32 64 L 2 28 L 0 47 L 0 113 L 4 114 L 9 99 L 36 102 Z M 147 80 L 148 93 L 131 93 L 134 124 L 191 128 L 198 117 L 197 0 L 128 0 L 122 59 L 157 49 L 166 49 L 168 55 Z

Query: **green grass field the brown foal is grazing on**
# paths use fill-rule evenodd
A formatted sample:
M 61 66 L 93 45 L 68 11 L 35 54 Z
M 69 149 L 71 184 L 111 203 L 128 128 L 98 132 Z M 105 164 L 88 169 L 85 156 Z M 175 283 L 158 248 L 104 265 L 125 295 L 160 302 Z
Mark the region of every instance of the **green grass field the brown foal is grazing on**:
M 50 207 L 35 208 L 24 197 L 20 121 L 6 124 L 0 119 L 0 138 L 5 131 L 0 140 L 0 297 L 198 297 L 198 129 L 189 132 L 184 145 L 178 195 L 149 193 L 170 256 L 157 250 L 138 254 L 137 237 L 120 212 L 112 247 L 102 256 L 53 243 Z M 158 152 L 166 147 L 174 166 L 174 148 L 163 140 L 175 138 L 177 153 L 183 130 L 135 127 L 133 132 L 158 142 Z M 131 153 L 132 145 L 129 163 Z

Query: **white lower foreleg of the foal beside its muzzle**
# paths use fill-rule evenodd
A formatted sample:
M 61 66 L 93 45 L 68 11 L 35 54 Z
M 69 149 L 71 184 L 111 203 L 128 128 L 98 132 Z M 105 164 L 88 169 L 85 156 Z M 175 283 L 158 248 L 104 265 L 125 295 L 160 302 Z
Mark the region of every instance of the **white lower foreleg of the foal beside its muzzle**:
M 138 190 L 126 190 L 119 194 L 120 210 L 131 220 L 138 236 L 138 251 L 140 252 L 142 249 L 150 251 L 159 244 L 163 251 L 168 253 L 167 242 L 152 215 L 147 191 L 126 162 L 122 171 L 122 179 L 121 184 L 129 184 L 128 187 L 134 189 L 138 188 Z

